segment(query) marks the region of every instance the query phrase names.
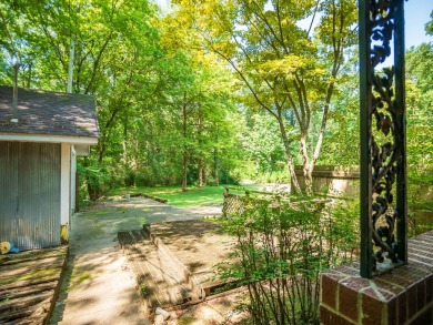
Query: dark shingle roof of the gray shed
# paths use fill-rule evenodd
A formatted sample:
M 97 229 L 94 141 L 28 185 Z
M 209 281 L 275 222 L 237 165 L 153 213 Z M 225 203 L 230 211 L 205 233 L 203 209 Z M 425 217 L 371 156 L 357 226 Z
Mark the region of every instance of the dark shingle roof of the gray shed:
M 91 95 L 18 89 L 18 123 L 12 119 L 12 87 L 0 87 L 0 134 L 51 134 L 99 138 Z

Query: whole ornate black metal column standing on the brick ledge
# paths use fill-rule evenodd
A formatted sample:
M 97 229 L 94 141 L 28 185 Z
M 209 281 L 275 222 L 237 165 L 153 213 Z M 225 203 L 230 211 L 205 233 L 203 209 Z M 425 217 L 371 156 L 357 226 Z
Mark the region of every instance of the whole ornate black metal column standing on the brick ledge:
M 403 0 L 359 4 L 361 276 L 372 277 L 407 262 L 404 9 Z M 389 57 L 393 67 L 380 71 Z

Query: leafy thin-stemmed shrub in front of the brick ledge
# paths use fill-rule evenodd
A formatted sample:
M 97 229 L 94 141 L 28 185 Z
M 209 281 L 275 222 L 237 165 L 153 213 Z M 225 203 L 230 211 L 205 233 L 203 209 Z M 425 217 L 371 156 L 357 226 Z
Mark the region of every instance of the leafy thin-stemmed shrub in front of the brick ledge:
M 254 324 L 315 324 L 320 272 L 354 257 L 356 216 L 353 202 L 244 197 L 239 213 L 221 221 L 238 240 L 221 277 L 248 286 Z

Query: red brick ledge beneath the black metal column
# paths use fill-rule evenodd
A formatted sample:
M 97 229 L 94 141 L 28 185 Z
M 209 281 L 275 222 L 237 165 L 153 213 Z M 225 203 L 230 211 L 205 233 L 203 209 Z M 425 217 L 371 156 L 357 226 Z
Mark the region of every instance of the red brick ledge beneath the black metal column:
M 358 262 L 322 273 L 321 324 L 433 324 L 433 232 L 409 241 L 409 264 L 362 278 Z

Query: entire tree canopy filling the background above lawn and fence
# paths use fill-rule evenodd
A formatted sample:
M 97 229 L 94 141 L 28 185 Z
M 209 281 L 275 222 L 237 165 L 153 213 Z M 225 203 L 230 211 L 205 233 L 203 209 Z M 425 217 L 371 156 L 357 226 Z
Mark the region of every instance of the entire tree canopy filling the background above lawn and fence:
M 309 190 L 316 163 L 359 159 L 356 20 L 353 0 L 4 0 L 0 83 L 18 62 L 20 87 L 67 91 L 73 53 L 72 92 L 95 98 L 101 129 L 79 164 L 91 199 L 271 174 L 299 191 L 295 164 Z M 407 53 L 416 165 L 431 165 L 432 63 L 432 44 Z

